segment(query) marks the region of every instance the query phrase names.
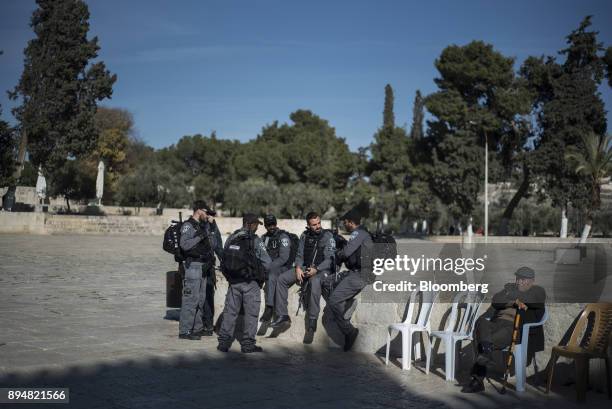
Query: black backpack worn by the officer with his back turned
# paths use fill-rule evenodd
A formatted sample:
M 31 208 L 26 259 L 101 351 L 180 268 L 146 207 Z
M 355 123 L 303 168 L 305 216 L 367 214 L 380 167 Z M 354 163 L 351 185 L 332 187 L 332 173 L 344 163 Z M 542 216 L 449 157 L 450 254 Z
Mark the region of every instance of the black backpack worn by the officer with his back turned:
M 223 251 L 221 272 L 230 283 L 265 280 L 265 271 L 255 255 L 254 235 L 240 232 L 232 237 Z

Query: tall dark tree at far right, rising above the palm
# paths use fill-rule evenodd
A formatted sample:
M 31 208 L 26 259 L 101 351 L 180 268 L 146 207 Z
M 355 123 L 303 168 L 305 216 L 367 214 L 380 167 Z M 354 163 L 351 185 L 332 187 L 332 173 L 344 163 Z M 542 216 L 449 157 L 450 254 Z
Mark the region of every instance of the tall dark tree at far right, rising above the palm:
M 524 76 L 537 92 L 538 134 L 534 173 L 540 179 L 542 197 L 553 206 L 567 209 L 587 208 L 589 181 L 568 165 L 565 153 L 581 149 L 580 135 L 605 135 L 607 124 L 604 103 L 598 92 L 607 63 L 597 32 L 589 31 L 587 16 L 567 36 L 567 48 L 560 51 L 565 61 L 552 57 L 531 57 L 523 66 Z M 584 147 L 583 147 L 584 148 Z

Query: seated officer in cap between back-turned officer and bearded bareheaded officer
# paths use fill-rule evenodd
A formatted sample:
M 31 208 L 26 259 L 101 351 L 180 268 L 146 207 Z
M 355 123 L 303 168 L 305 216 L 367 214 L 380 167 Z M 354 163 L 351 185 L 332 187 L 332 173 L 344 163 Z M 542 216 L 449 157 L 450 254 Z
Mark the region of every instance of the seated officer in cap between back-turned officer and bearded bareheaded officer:
M 269 323 L 274 312 L 274 295 L 278 276 L 291 267 L 288 265 L 291 255 L 291 239 L 286 232 L 278 228 L 274 215 L 268 214 L 264 217 L 264 227 L 267 232 L 262 236 L 262 240 L 272 259 L 272 264 L 265 287 L 266 309 L 259 321 Z

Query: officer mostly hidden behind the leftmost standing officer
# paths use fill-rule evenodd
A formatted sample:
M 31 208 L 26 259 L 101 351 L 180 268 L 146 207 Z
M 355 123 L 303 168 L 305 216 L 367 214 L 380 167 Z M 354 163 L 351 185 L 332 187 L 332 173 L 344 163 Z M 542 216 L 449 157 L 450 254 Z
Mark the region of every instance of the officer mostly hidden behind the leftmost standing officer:
M 207 213 L 207 220 L 202 223 L 204 231 L 208 232 L 208 239 L 213 248 L 217 258 L 221 260 L 223 258 L 223 241 L 221 240 L 221 232 L 217 227 L 217 222 L 214 219 L 216 216 L 215 211 Z M 203 336 L 212 336 L 214 328 L 214 316 L 215 316 L 215 289 L 217 287 L 217 276 L 215 274 L 216 260 L 213 258 L 213 263 L 208 268 L 208 271 L 204 272 L 206 276 L 206 297 L 204 300 L 204 310 L 202 314 L 202 320 L 204 329 L 202 331 Z

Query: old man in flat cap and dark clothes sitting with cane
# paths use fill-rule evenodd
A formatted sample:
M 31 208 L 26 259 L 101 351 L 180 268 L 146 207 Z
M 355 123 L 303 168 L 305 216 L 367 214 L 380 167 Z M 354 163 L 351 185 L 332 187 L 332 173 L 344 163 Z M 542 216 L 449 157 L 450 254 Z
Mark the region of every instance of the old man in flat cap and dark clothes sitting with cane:
M 472 379 L 465 385 L 462 392 L 475 393 L 484 391 L 484 378 L 487 376 L 487 363 L 491 361 L 491 353 L 508 347 L 512 342 L 514 317 L 521 314 L 521 326 L 538 322 L 544 315 L 546 292 L 540 286 L 534 285 L 535 271 L 529 267 L 521 267 L 514 273 L 515 283 L 508 283 L 504 289 L 493 296 L 491 307 L 493 317 L 489 320 L 484 316 L 476 321 L 475 342 L 478 351 L 476 363 L 472 368 Z M 522 334 L 522 327 L 519 331 Z M 531 351 L 544 349 L 544 331 L 542 327 L 534 327 L 529 331 L 529 348 Z

